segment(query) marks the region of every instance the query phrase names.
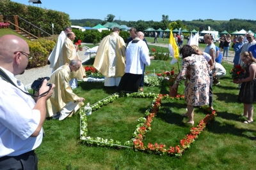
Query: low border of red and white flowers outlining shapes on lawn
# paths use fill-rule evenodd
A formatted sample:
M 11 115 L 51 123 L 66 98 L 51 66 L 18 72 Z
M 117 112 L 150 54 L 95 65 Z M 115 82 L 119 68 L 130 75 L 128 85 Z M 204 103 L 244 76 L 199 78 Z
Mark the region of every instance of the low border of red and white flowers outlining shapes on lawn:
M 106 99 L 102 99 L 93 105 L 91 105 L 92 110 L 97 110 L 101 106 L 111 103 L 117 99 L 119 95 L 113 94 Z M 200 120 L 199 124 L 196 127 L 192 127 L 190 129 L 190 134 L 187 134 L 183 139 L 180 140 L 180 145 L 169 146 L 166 148 L 164 144 L 158 143 L 148 143 L 148 145 L 143 144 L 143 139 L 145 138 L 148 131 L 151 131 L 151 122 L 156 117 L 159 108 L 161 107 L 161 101 L 163 99 L 171 98 L 175 99 L 184 99 L 184 96 L 177 97 L 169 97 L 168 95 L 162 94 L 151 94 L 151 93 L 132 93 L 127 94 L 127 97 L 151 97 L 153 98 L 152 105 L 145 111 L 145 117 L 141 117 L 138 119 L 139 124 L 136 126 L 132 139 L 129 141 L 125 141 L 125 143 L 121 143 L 120 141 L 114 141 L 113 139 L 104 139 L 104 138 L 92 138 L 87 136 L 87 118 L 84 111 L 80 110 L 80 139 L 83 143 L 87 143 L 90 145 L 97 146 L 113 146 L 116 148 L 134 148 L 134 150 L 140 150 L 148 153 L 156 153 L 159 155 L 164 155 L 167 153 L 168 155 L 180 157 L 182 153 L 190 147 L 190 144 L 195 142 L 195 139 L 198 138 L 200 132 L 202 132 L 205 128 L 205 125 L 211 121 L 216 116 L 216 111 L 212 111 L 211 114 L 206 115 L 203 120 Z

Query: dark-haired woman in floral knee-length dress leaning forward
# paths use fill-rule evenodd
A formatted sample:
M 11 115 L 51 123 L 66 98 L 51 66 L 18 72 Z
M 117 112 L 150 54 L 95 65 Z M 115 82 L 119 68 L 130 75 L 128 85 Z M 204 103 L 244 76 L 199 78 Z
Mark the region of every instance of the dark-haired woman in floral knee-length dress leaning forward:
M 183 116 L 189 117 L 187 123 L 194 125 L 194 106 L 209 104 L 210 65 L 204 56 L 198 55 L 189 45 L 184 45 L 180 53 L 183 59 L 182 70 L 172 88 L 175 89 L 186 75 L 190 77 L 184 92 L 188 112 Z

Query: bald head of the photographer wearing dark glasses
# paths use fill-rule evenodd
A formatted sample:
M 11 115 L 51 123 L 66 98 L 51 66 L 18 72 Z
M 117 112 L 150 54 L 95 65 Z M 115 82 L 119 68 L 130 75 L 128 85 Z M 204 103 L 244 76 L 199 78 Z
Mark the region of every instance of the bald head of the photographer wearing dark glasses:
M 26 55 L 23 56 L 24 53 L 29 53 L 28 43 L 24 39 L 14 35 L 0 37 L 1 67 L 15 75 L 24 72 L 24 69 L 28 66 L 28 58 Z

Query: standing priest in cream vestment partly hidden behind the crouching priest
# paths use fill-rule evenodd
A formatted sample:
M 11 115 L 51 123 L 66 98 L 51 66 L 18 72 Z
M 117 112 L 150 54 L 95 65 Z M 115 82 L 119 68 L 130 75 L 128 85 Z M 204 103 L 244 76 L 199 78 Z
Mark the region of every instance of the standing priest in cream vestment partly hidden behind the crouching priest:
M 69 63 L 72 59 L 79 59 L 79 55 L 77 53 L 77 48 L 74 46 L 73 41 L 76 38 L 76 35 L 74 32 L 68 32 L 67 38 L 65 39 L 63 43 L 63 47 L 60 53 L 60 56 L 58 57 L 58 60 L 54 66 L 54 70 L 58 69 L 58 67 L 63 66 L 66 63 Z M 77 88 L 77 79 L 83 80 L 83 78 L 86 76 L 84 67 L 81 66 L 80 69 L 77 71 L 77 75 L 75 78 L 70 80 L 70 85 L 72 89 Z

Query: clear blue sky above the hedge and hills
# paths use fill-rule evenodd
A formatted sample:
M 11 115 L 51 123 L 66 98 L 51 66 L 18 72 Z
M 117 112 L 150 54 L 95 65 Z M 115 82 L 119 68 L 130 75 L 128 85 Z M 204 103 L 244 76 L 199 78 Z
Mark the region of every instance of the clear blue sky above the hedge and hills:
M 29 0 L 11 1 L 29 5 Z M 256 0 L 111 0 L 108 3 L 106 3 L 106 0 L 40 1 L 42 4 L 30 3 L 30 5 L 63 11 L 70 16 L 70 19 L 92 18 L 104 20 L 108 14 L 112 14 L 115 15 L 114 20 L 125 21 L 161 21 L 162 15 L 168 15 L 169 20 L 195 20 L 199 18 L 203 20 L 208 18 L 213 20 L 230 20 L 233 18 L 256 20 L 255 14 L 253 14 L 255 13 Z M 1 12 L 3 13 L 3 11 Z

